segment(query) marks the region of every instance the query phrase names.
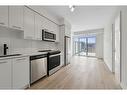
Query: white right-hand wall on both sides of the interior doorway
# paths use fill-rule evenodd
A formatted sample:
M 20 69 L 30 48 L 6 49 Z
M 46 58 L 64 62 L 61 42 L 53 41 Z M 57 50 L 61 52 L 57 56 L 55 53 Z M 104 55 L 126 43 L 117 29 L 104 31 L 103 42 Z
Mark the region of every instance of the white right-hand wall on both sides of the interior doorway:
M 120 7 L 116 13 L 121 11 L 121 23 L 120 23 L 120 32 L 121 32 L 121 49 L 120 49 L 120 57 L 121 57 L 121 86 L 124 89 L 127 89 L 127 7 Z M 116 16 L 116 14 L 115 14 Z M 114 16 L 114 17 L 115 17 Z M 114 19 L 112 19 L 114 20 Z M 111 32 L 111 24 L 107 24 L 104 31 L 104 60 L 107 66 L 112 68 L 111 63 L 111 53 L 112 53 L 112 32 Z

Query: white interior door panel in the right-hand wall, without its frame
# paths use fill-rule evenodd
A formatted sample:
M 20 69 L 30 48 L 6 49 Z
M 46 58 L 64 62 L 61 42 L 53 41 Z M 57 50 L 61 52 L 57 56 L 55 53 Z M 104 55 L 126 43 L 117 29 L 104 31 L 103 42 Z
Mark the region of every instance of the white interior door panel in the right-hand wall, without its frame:
M 120 14 L 115 18 L 115 77 L 120 82 Z

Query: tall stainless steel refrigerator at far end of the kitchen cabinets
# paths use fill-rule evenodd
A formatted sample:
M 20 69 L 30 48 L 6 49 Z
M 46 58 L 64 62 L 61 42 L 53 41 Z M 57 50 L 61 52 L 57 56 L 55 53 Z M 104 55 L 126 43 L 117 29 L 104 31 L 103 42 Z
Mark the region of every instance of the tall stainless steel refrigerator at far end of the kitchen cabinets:
M 64 65 L 68 65 L 71 59 L 71 38 L 64 37 Z

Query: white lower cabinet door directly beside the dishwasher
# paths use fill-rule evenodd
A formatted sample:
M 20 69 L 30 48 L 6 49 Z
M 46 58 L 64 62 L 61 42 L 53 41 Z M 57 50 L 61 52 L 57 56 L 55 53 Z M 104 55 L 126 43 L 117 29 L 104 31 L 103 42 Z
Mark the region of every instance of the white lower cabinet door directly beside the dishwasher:
M 21 57 L 13 59 L 13 89 L 25 88 L 29 85 L 29 58 Z

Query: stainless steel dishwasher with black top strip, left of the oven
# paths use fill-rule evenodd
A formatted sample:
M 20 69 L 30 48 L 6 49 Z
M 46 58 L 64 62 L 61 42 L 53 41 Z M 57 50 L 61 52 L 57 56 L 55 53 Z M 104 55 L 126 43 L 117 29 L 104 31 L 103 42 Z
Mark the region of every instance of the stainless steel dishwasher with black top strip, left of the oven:
M 47 54 L 30 56 L 30 83 L 47 75 Z

